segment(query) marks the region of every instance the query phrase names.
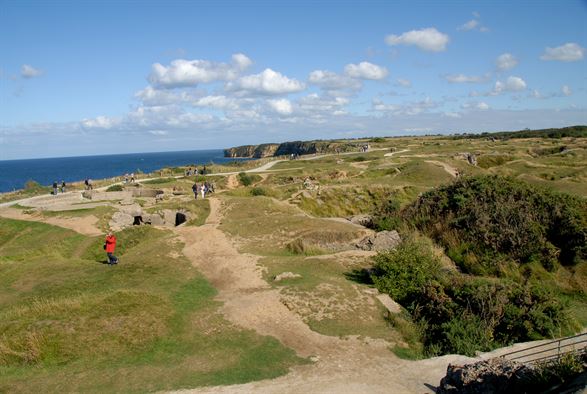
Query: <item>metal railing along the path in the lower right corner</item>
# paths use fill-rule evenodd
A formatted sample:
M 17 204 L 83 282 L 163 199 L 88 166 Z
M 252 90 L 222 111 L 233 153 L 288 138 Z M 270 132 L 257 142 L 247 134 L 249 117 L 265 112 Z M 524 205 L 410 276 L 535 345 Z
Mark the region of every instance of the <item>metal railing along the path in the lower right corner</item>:
M 569 353 L 587 351 L 587 332 L 555 339 L 522 350 L 502 354 L 500 358 L 523 363 L 549 362 L 558 360 Z

